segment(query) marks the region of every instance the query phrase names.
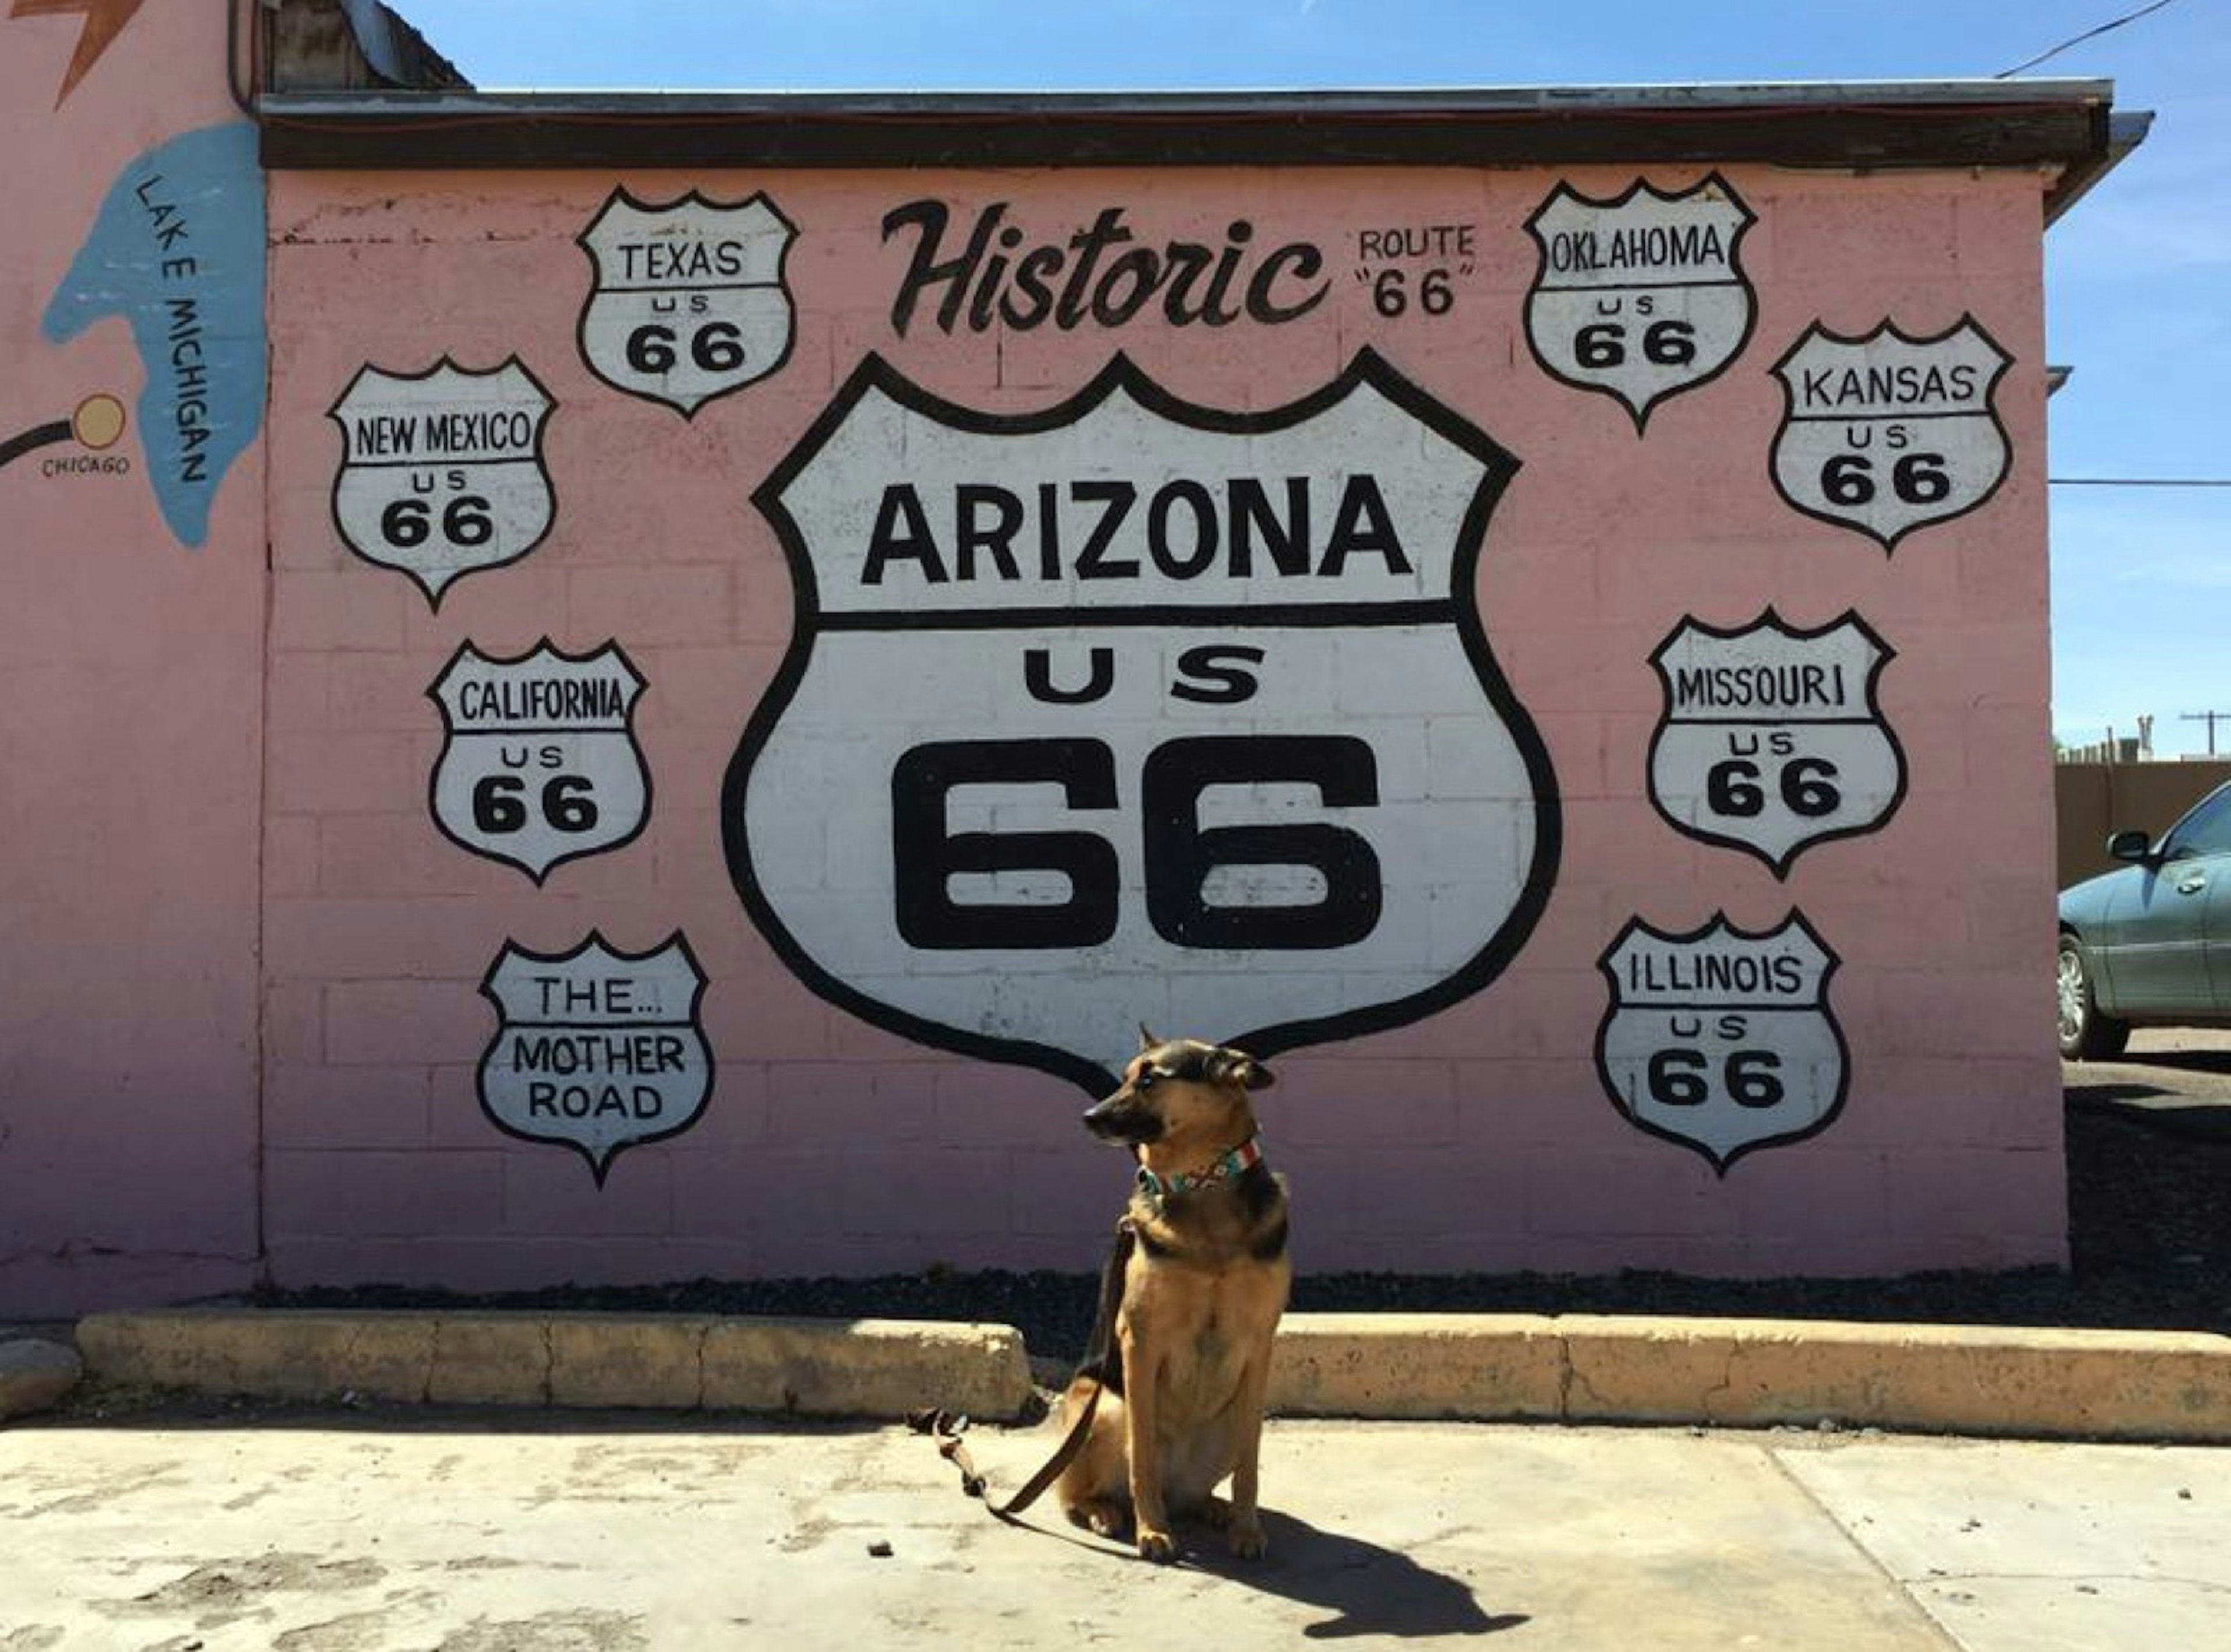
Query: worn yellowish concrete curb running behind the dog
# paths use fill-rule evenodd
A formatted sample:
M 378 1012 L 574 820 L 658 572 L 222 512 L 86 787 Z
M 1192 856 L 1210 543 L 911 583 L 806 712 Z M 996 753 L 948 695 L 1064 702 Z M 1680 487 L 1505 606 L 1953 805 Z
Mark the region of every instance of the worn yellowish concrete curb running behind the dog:
M 997 1324 L 622 1313 L 105 1313 L 98 1382 L 277 1400 L 1017 1418 L 1022 1335 Z M 2231 1338 L 2189 1331 L 1290 1313 L 1283 1416 L 1818 1425 L 1923 1434 L 2231 1440 Z

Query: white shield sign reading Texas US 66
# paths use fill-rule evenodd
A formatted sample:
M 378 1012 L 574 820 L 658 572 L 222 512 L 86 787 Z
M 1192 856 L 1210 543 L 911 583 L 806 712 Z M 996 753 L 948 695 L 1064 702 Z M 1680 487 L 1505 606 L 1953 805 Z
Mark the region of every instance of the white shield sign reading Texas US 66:
M 627 190 L 582 230 L 596 288 L 580 312 L 580 359 L 616 390 L 678 408 L 765 379 L 790 359 L 783 259 L 796 227 L 765 194 L 660 207 Z

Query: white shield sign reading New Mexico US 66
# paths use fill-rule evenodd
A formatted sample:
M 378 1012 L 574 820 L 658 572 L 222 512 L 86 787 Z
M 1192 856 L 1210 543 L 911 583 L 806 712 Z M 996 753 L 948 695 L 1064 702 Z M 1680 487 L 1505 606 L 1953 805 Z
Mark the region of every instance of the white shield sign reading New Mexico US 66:
M 366 366 L 326 415 L 341 426 L 332 526 L 440 606 L 451 580 L 518 562 L 551 531 L 542 428 L 553 406 L 518 357 L 491 372 L 448 357 L 424 372 Z

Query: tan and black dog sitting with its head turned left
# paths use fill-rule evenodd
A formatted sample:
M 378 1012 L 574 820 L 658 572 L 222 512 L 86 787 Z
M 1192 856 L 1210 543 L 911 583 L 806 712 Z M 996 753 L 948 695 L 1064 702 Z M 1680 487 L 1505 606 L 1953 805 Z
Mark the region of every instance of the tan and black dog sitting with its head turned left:
M 1232 1552 L 1263 1554 L 1256 1460 L 1272 1335 L 1285 1311 L 1285 1179 L 1256 1146 L 1252 1092 L 1269 1068 L 1240 1050 L 1158 1039 L 1122 1086 L 1084 1115 L 1138 1155 L 1138 1188 L 1102 1280 L 1095 1351 L 1062 1396 L 1062 1425 L 1102 1402 L 1057 1496 L 1075 1525 L 1174 1561 L 1171 1512 L 1223 1527 Z M 1109 1340 L 1109 1320 L 1113 1338 Z M 1214 1496 L 1232 1476 L 1232 1500 Z

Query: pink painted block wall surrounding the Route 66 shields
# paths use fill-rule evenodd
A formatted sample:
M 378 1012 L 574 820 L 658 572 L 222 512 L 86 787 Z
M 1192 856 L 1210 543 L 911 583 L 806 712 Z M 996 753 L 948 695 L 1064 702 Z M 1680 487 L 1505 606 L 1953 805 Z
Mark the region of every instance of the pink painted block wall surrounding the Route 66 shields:
M 1698 176 L 1649 172 L 1660 190 Z M 125 1175 L 118 1153 L 192 1150 L 245 1177 L 254 1061 L 239 1048 L 248 1008 L 234 976 L 261 921 L 263 1237 L 281 1284 L 1091 1266 L 1127 1166 L 1078 1128 L 1082 1090 L 868 1026 L 801 983 L 738 901 L 723 776 L 792 631 L 790 569 L 750 495 L 870 350 L 953 404 L 1024 415 L 1078 392 L 1116 350 L 1176 397 L 1263 410 L 1321 390 L 1368 346 L 1522 461 L 1475 595 L 1555 771 L 1562 858 L 1539 923 L 1488 988 L 1274 1063 L 1263 1119 L 1269 1157 L 1294 1182 L 1301 1264 L 1742 1275 L 2061 1262 L 2039 185 L 1970 172 L 1725 176 L 1758 214 L 1742 243 L 1756 328 L 1727 372 L 1660 401 L 1638 435 L 1620 401 L 1551 379 L 1524 334 L 1526 218 L 1559 181 L 1611 198 L 1631 169 L 274 174 L 261 814 L 254 638 L 221 651 L 196 635 L 183 649 L 181 622 L 219 602 L 201 624 L 252 626 L 252 569 L 236 582 L 216 571 L 228 580 L 216 589 L 212 557 L 145 566 L 120 537 L 87 531 L 83 504 L 67 519 L 76 555 L 38 564 L 49 600 L 76 593 L 74 631 L 100 635 L 100 673 L 114 673 L 91 682 L 71 638 L 67 693 L 105 707 L 100 729 L 127 749 L 145 742 L 158 767 L 201 754 L 190 867 L 176 865 L 190 849 L 154 823 L 134 829 L 129 852 L 109 838 L 98 876 L 74 861 L 87 834 L 40 836 L 38 898 L 54 905 L 33 930 L 51 939 L 18 934 L 16 968 L 36 979 L 31 1023 L 71 1028 L 54 1072 L 78 1097 L 109 1099 L 120 1126 L 89 1130 L 80 1110 L 60 1110 L 45 1126 L 58 1133 L 47 1162 L 98 1157 L 103 1175 Z M 591 375 L 576 343 L 591 281 L 576 236 L 616 183 L 645 203 L 689 187 L 727 203 L 763 192 L 796 225 L 785 268 L 796 323 L 779 372 L 692 419 Z M 29 181 L 20 190 L 36 212 Z M 1332 288 L 1276 328 L 1176 328 L 1149 305 L 1122 328 L 946 334 L 917 317 L 901 337 L 890 308 L 912 243 L 886 241 L 881 221 L 919 198 L 950 203 L 955 234 L 1006 201 L 1049 241 L 1109 205 L 1149 245 L 1218 243 L 1247 216 L 1258 245 L 1321 247 Z M 1388 317 L 1354 279 L 1359 232 L 1401 225 L 1472 227 L 1441 314 Z M 1995 397 L 2012 457 L 1990 502 L 1890 555 L 1785 504 L 1767 464 L 1783 417 L 1771 363 L 1814 323 L 1856 337 L 1892 319 L 1932 334 L 1963 314 L 2012 357 Z M 538 548 L 457 580 L 431 609 L 411 580 L 339 542 L 341 435 L 328 408 L 366 366 L 406 375 L 444 357 L 475 372 L 518 357 L 549 390 L 558 513 Z M 60 506 L 38 493 L 29 508 L 49 497 Z M 252 522 L 239 526 L 252 537 Z M 127 566 L 96 577 L 107 560 Z M 154 595 L 149 582 L 172 589 Z M 1856 611 L 1894 649 L 1879 709 L 1908 771 L 1881 829 L 1805 849 L 1787 881 L 1675 834 L 1646 787 L 1664 711 L 1653 649 L 1684 618 L 1740 626 L 1769 604 L 1794 626 Z M 27 624 L 22 606 L 9 624 Z M 636 736 L 656 803 L 640 838 L 538 885 L 435 829 L 442 725 L 426 691 L 464 642 L 520 655 L 544 638 L 571 653 L 614 640 L 640 669 Z M 181 649 L 221 673 L 225 711 L 176 693 L 154 664 Z M 11 655 L 0 669 L 36 667 Z M 27 722 L 11 738 L 60 738 L 33 698 L 54 693 L 7 698 Z M 149 709 L 190 738 L 149 738 Z M 219 727 L 239 749 L 205 769 Z M 60 767 L 78 776 L 80 807 L 120 834 L 145 769 L 94 762 L 100 742 L 83 736 L 71 747 L 85 760 Z M 176 865 L 185 910 L 152 898 L 143 852 Z M 1791 907 L 1841 959 L 1829 1003 L 1849 1050 L 1847 1097 L 1827 1128 L 1720 1175 L 1606 1097 L 1593 1059 L 1606 1010 L 1597 959 L 1638 916 L 1684 932 L 1725 912 L 1762 932 Z M 107 934 L 176 925 L 167 965 L 134 961 L 141 985 L 214 970 L 219 1003 L 192 1019 L 127 1014 L 114 990 L 91 990 L 114 985 L 114 948 L 98 968 L 58 972 L 54 948 L 89 914 Z M 493 1128 L 475 1092 L 495 1037 L 480 994 L 491 961 L 506 943 L 562 954 L 591 930 L 627 952 L 687 934 L 716 1059 L 696 1121 L 627 1148 L 602 1184 L 582 1155 Z M 83 1037 L 62 1019 L 80 994 L 125 1023 Z M 165 1083 L 100 1090 L 136 1072 L 134 1039 L 178 1055 Z M 214 1092 L 187 1106 L 172 1086 L 181 1068 Z M 0 1148 L 0 1173 L 20 1155 L 22 1144 Z

